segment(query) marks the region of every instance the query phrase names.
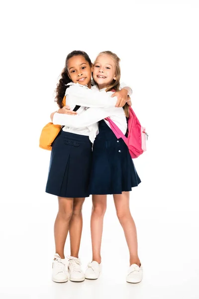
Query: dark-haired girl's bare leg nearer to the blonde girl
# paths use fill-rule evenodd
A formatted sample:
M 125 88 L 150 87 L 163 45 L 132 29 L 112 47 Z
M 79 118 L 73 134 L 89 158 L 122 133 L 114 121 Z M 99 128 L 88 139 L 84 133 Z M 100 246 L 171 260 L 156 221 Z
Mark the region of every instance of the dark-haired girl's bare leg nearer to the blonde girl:
M 69 224 L 69 234 L 71 243 L 71 256 L 78 258 L 80 241 L 82 236 L 83 218 L 82 206 L 85 198 L 74 198 L 73 214 Z

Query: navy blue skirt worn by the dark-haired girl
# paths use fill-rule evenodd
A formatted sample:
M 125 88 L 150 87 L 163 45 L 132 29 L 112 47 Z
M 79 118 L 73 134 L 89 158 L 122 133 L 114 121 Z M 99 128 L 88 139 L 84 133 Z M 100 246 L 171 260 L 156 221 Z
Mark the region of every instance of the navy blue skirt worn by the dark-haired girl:
M 88 197 L 91 165 L 89 137 L 61 131 L 52 146 L 46 192 L 60 197 Z

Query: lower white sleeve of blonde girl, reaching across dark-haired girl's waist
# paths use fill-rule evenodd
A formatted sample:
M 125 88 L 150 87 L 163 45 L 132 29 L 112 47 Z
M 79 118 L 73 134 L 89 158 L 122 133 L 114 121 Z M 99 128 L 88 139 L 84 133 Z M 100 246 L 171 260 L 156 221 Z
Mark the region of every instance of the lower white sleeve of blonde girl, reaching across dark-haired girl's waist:
M 112 109 L 89 108 L 87 109 L 87 111 L 85 111 L 80 115 L 67 115 L 67 114 L 55 113 L 53 116 L 53 124 L 67 126 L 76 129 L 88 127 L 114 114 L 115 109 L 118 108 L 112 108 Z

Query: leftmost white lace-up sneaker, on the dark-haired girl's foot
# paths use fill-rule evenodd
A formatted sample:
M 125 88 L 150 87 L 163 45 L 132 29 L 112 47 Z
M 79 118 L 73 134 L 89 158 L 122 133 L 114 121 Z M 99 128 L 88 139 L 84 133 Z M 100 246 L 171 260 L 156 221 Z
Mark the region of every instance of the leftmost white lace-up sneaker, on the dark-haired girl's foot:
M 66 260 L 61 259 L 58 253 L 54 255 L 52 280 L 55 283 L 68 282 Z

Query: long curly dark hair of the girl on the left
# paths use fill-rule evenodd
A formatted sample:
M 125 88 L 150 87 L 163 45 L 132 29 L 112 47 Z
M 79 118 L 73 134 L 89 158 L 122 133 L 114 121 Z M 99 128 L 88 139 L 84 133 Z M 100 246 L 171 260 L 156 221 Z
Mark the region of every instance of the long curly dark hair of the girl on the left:
M 82 55 L 86 59 L 86 61 L 89 62 L 89 65 L 90 66 L 92 65 L 92 62 L 91 62 L 91 59 L 90 59 L 89 55 L 84 51 L 75 50 L 75 51 L 72 51 L 71 53 L 69 53 L 67 55 L 66 62 L 65 62 L 65 67 L 64 67 L 64 69 L 61 73 L 61 78 L 59 80 L 59 83 L 57 83 L 57 88 L 55 90 L 56 91 L 55 102 L 57 102 L 57 105 L 59 106 L 59 108 L 63 107 L 62 101 L 63 101 L 63 98 L 65 96 L 66 89 L 69 87 L 69 86 L 66 86 L 66 84 L 68 84 L 69 82 L 72 82 L 72 80 L 68 76 L 68 70 L 67 70 L 68 60 L 71 57 L 78 56 L 78 55 Z

